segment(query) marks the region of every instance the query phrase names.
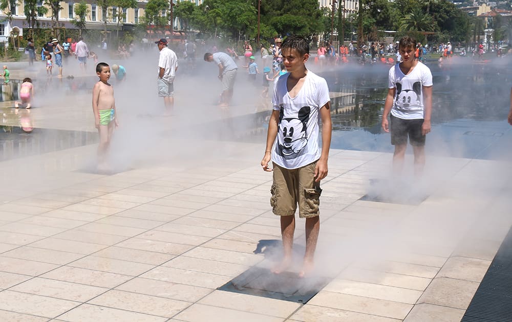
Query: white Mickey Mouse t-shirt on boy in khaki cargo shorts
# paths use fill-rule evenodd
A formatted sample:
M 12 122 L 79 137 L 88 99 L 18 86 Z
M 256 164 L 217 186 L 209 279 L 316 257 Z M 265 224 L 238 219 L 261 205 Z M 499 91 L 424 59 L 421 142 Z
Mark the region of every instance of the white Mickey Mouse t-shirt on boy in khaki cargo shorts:
M 318 111 L 330 98 L 326 80 L 311 71 L 297 96 L 291 98 L 286 86 L 289 76 L 284 74 L 274 83 L 272 104 L 280 115 L 272 161 L 286 169 L 297 169 L 320 158 Z

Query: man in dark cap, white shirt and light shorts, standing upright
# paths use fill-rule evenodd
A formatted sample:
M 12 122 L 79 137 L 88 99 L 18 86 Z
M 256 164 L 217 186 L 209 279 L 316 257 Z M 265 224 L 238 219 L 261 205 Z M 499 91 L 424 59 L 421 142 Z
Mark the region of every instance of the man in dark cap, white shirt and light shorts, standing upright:
M 167 47 L 167 39 L 155 41 L 160 51 L 158 59 L 158 96 L 163 97 L 166 114 L 174 107 L 174 76 L 178 70 L 178 57 Z

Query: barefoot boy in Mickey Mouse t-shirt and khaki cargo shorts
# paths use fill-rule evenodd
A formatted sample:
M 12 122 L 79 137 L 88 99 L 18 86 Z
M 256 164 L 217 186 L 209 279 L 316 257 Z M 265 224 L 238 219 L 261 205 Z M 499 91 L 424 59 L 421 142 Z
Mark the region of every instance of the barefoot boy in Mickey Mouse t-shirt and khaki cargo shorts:
M 281 216 L 284 256 L 272 271 L 281 273 L 292 263 L 298 203 L 299 216 L 306 218 L 306 253 L 298 273 L 304 277 L 313 269 L 320 229 L 320 180 L 327 176 L 331 144 L 329 88 L 325 79 L 307 70 L 309 45 L 304 38 L 287 38 L 281 50 L 288 73 L 274 83 L 273 110 L 261 166 L 264 171 L 273 171 L 270 204 L 273 213 Z M 322 150 L 318 118 L 322 119 Z M 270 160 L 273 169 L 268 167 Z

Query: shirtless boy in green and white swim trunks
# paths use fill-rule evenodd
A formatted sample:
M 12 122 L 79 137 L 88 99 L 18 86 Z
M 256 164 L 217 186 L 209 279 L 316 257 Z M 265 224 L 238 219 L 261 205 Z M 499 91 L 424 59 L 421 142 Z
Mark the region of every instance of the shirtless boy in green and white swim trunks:
M 114 102 L 114 88 L 109 84 L 110 66 L 100 62 L 96 65 L 96 75 L 99 77 L 99 82 L 93 88 L 93 111 L 94 126 L 99 133 L 98 170 L 105 170 L 106 154 L 109 151 L 114 126 L 119 126 L 119 123 Z

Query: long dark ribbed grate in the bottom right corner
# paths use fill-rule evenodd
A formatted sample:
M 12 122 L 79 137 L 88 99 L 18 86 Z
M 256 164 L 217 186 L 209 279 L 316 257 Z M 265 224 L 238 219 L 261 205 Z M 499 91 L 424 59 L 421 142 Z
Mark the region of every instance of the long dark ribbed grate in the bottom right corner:
M 496 321 L 512 321 L 512 228 L 461 319 L 461 322 Z

